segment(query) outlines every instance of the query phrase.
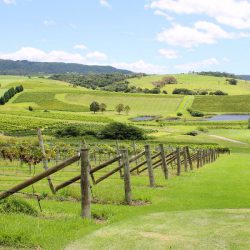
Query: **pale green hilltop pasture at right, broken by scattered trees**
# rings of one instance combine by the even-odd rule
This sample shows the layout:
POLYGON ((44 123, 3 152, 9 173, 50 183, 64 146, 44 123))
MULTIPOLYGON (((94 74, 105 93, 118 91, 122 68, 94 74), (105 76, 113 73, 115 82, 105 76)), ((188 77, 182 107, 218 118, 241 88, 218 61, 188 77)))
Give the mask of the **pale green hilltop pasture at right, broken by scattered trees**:
MULTIPOLYGON (((162 75, 146 76, 141 78, 129 79, 131 85, 152 89, 155 81, 159 81, 163 78, 162 75)), ((215 91, 222 90, 230 95, 245 95, 250 94, 250 82, 239 80, 237 86, 229 85, 226 82, 226 78, 213 77, 213 76, 200 76, 193 74, 178 74, 174 75, 178 84, 170 84, 162 88, 167 90, 169 94, 172 94, 175 88, 187 88, 192 90, 207 90, 215 91)))

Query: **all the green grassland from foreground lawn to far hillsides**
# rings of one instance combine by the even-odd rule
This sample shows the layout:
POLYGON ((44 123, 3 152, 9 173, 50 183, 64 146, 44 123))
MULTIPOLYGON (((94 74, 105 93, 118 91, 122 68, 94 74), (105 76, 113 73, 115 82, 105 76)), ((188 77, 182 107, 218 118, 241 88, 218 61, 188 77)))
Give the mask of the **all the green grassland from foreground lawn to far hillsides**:
MULTIPOLYGON (((137 86, 152 88, 151 81, 162 76, 131 79, 137 86)), ((189 117, 186 109, 192 107, 206 113, 250 112, 250 84, 241 82, 228 86, 225 79, 195 75, 178 75, 177 86, 193 89, 223 89, 231 96, 173 96, 122 94, 73 88, 67 83, 43 78, 0 76, 0 91, 23 84, 24 92, 0 106, 0 135, 2 141, 18 140, 37 142, 36 129, 54 130, 65 124, 99 131, 111 121, 122 121, 146 129, 148 140, 136 142, 143 147, 150 143, 178 146, 223 146, 231 149, 231 155, 221 156, 215 163, 205 165, 175 176, 171 169, 169 180, 163 178, 161 169, 155 171, 156 188, 149 188, 148 176, 132 175, 134 200, 147 202, 142 206, 126 206, 124 183, 116 174, 110 179, 93 185, 95 202, 92 204, 91 221, 80 217, 80 184, 77 182, 60 191, 50 193, 46 180, 29 187, 24 192, 48 195, 41 200, 42 212, 38 216, 16 213, 0 213, 0 249, 249 249, 250 245, 250 130, 247 122, 203 122, 189 117), (88 111, 92 101, 104 102, 108 111, 93 114, 88 111), (114 107, 123 103, 131 107, 129 115, 118 115, 114 107), (28 106, 34 111, 27 110, 28 106), (49 112, 44 112, 48 109, 49 112), (139 115, 175 117, 184 114, 180 121, 132 122, 139 115), (32 133, 30 134, 30 131, 32 133), (197 136, 186 135, 198 131, 197 136), (214 137, 217 136, 217 137, 214 137), (228 140, 229 139, 229 140, 228 140), (230 141, 236 140, 236 141, 230 141), (238 142, 237 142, 238 141, 238 142)), ((79 148, 83 137, 54 138, 44 136, 45 143, 73 143, 79 148)), ((100 141, 87 137, 93 147, 115 141, 100 141)), ((131 145, 131 142, 124 142, 131 145)), ((104 159, 103 159, 104 160, 104 159)), ((93 159, 91 158, 92 165, 93 159)), ((53 166, 54 161, 49 162, 53 166)), ((113 165, 114 167, 114 165, 113 165)), ((33 167, 31 168, 33 170, 33 167)), ((42 171, 42 164, 36 173, 42 171)), ((105 173, 104 170, 102 173, 105 173)), ((79 174, 79 165, 52 176, 59 184, 79 174)), ((0 190, 19 183, 33 175, 19 161, 9 162, 0 158, 0 190)), ((37 201, 25 199, 37 211, 37 201)))

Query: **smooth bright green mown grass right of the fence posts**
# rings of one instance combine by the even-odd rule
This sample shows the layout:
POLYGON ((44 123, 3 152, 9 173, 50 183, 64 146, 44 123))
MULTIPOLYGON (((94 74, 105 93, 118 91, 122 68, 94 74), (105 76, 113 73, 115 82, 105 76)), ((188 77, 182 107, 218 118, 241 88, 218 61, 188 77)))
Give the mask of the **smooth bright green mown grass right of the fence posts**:
POLYGON ((66 249, 248 249, 247 158, 223 156, 170 180, 158 190, 152 207, 142 208, 143 214, 130 213, 66 249))

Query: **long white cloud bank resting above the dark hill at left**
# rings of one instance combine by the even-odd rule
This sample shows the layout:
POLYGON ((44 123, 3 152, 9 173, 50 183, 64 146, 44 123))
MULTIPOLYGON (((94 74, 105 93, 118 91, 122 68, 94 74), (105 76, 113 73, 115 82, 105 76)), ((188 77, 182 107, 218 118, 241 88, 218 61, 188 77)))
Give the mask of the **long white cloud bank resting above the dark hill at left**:
MULTIPOLYGON (((37 62, 65 62, 80 64, 96 64, 97 61, 103 60, 103 53, 91 52, 85 56, 79 53, 69 53, 61 50, 52 50, 45 52, 32 47, 23 47, 12 53, 0 53, 1 59, 9 60, 29 60, 37 62)), ((105 55, 106 56, 106 55, 105 55)), ((106 56, 107 57, 107 56, 106 56)))

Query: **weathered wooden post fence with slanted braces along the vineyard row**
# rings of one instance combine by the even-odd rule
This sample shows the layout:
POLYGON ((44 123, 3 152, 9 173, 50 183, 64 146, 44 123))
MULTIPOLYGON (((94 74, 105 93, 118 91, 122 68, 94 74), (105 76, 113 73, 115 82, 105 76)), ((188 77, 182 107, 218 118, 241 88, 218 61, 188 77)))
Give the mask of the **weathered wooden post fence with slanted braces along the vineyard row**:
POLYGON ((153 188, 156 186, 154 175, 155 169, 161 168, 164 178, 168 179, 170 167, 173 168, 173 166, 176 166, 176 175, 180 176, 184 171, 187 172, 188 170, 201 168, 205 164, 216 161, 221 153, 224 152, 221 152, 219 149, 191 150, 187 146, 183 148, 178 147, 174 151, 166 153, 164 145, 160 144, 158 147, 158 152, 152 154, 150 145, 145 145, 145 148, 142 152, 132 155, 131 157, 129 157, 127 149, 117 150, 117 155, 114 158, 109 159, 98 166, 92 167, 89 160, 89 149, 84 148, 80 150, 79 154, 51 168, 47 167, 44 156, 44 164, 46 165, 45 171, 10 188, 5 192, 0 193, 0 200, 19 192, 44 178, 48 179, 49 187, 53 194, 80 180, 82 217, 90 218, 90 180, 92 181, 93 185, 97 185, 115 173, 119 172, 121 179, 124 181, 125 201, 128 205, 131 205, 132 188, 130 179, 132 174, 139 175, 143 172, 146 172, 149 178, 149 185, 153 188), (79 160, 81 162, 79 171, 80 174, 57 186, 54 186, 50 175, 68 167, 75 162, 78 162, 79 160), (98 171, 105 169, 114 163, 117 164, 115 168, 103 174, 102 176, 99 176, 98 179, 95 178, 95 174, 98 171), (135 166, 132 167, 132 164, 135 166))

